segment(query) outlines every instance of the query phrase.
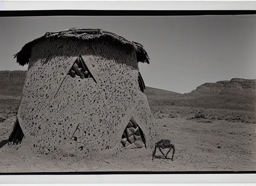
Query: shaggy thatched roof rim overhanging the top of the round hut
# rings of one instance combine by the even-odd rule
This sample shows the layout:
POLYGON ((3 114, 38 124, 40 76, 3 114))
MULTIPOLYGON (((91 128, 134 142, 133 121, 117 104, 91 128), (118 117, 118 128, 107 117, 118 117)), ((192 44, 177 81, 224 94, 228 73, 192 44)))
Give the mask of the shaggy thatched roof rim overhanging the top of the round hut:
POLYGON ((29 43, 25 44, 20 52, 13 55, 14 58, 17 58, 17 63, 21 66, 28 64, 29 58, 31 55, 31 49, 33 45, 37 41, 41 41, 47 38, 75 38, 81 40, 91 40, 91 39, 99 39, 103 37, 103 39, 111 39, 111 41, 116 42, 116 44, 123 44, 123 45, 131 45, 135 48, 137 54, 137 61, 138 62, 146 62, 149 64, 149 57, 144 49, 143 45, 134 41, 128 41, 127 39, 116 35, 115 33, 111 33, 108 31, 103 31, 102 29, 86 29, 86 28, 70 28, 67 30, 59 31, 59 32, 46 32, 44 36, 41 36, 29 43))

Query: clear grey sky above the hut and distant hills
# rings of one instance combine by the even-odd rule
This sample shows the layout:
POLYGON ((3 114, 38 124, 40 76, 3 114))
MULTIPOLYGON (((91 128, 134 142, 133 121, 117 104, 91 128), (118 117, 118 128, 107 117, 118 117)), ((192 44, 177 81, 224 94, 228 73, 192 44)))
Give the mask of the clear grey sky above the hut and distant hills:
POLYGON ((256 79, 256 16, 0 17, 0 25, 0 70, 26 70, 12 57, 25 43, 78 27, 141 43, 151 59, 139 64, 146 86, 187 93, 205 82, 256 79))

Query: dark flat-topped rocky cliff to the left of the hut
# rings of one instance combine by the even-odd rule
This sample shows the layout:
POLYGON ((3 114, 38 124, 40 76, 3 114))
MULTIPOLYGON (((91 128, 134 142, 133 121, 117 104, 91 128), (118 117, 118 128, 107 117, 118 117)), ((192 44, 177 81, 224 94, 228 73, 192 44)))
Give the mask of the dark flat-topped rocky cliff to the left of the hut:
POLYGON ((20 96, 26 77, 27 71, 0 71, 0 95, 20 96))

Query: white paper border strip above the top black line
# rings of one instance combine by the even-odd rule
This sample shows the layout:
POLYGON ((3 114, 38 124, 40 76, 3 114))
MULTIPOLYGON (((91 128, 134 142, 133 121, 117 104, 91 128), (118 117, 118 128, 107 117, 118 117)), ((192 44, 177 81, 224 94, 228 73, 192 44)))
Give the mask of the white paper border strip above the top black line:
POLYGON ((256 10, 256 1, 0 1, 0 11, 20 10, 256 10))

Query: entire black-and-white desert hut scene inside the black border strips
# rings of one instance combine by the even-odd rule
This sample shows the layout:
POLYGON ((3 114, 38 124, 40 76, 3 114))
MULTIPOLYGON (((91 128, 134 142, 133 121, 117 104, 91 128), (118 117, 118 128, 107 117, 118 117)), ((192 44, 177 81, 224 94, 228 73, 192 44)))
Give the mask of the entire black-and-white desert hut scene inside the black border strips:
POLYGON ((0 173, 256 171, 255 15, 0 25, 0 173))

